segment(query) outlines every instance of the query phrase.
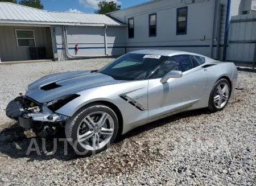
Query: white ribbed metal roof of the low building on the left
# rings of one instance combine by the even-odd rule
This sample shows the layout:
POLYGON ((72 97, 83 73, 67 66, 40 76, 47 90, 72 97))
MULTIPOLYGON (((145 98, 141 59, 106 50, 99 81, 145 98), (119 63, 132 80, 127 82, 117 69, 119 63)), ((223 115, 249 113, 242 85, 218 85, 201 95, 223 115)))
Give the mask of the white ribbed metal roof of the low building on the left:
POLYGON ((0 23, 123 26, 104 14, 64 13, 0 2, 0 23))

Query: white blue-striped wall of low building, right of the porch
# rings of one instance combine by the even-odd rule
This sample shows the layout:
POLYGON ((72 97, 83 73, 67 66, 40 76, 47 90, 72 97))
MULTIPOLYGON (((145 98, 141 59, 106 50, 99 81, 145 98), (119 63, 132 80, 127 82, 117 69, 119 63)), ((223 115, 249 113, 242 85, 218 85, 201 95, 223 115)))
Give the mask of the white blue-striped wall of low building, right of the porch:
MULTIPOLYGON (((104 27, 68 26, 67 41, 68 53, 73 56, 98 56, 105 55, 104 27), (76 44, 79 51, 75 52, 76 44)), ((108 54, 123 55, 125 53, 125 37, 123 33, 126 27, 108 27, 106 30, 108 54)), ((62 27, 56 27, 56 42, 59 60, 64 60, 64 48, 62 39, 62 27)))

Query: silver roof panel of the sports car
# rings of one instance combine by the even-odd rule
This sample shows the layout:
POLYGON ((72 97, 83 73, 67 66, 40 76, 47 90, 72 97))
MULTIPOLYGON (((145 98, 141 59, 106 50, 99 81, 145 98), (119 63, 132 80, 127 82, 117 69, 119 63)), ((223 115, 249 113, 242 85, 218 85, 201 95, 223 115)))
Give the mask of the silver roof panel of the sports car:
MULTIPOLYGON (((202 56, 209 60, 214 60, 210 57, 200 55, 199 53, 192 53, 192 52, 185 52, 185 51, 176 51, 176 50, 169 50, 169 49, 142 49, 139 51, 133 51, 129 53, 141 53, 141 54, 152 54, 152 55, 161 55, 161 56, 174 56, 174 55, 196 55, 202 56)), ((215 60, 214 60, 215 61, 215 60)))

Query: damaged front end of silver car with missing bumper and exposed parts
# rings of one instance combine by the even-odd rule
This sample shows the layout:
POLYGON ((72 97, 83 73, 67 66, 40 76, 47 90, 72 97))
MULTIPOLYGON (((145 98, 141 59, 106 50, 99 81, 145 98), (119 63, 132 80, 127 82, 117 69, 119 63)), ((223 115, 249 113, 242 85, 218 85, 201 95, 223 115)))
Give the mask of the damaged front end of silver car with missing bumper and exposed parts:
POLYGON ((6 115, 18 121, 20 127, 32 129, 44 138, 64 127, 68 117, 55 111, 76 97, 76 94, 68 95, 41 104, 27 96, 19 96, 7 105, 6 115))

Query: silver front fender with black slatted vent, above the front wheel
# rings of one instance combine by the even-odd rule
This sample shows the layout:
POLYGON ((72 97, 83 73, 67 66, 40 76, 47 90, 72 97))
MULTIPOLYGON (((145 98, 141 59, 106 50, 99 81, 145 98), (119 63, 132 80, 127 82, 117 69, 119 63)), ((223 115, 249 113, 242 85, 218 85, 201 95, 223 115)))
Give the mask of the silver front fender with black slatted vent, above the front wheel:
POLYGON ((139 110, 134 104, 130 104, 121 98, 121 95, 125 94, 129 96, 147 109, 147 89, 148 80, 143 80, 84 90, 76 93, 79 94, 80 97, 68 102, 68 104, 56 110, 56 113, 71 117, 77 110, 82 108, 82 106, 90 104, 91 102, 108 101, 117 106, 121 111, 123 117, 122 133, 126 133, 134 127, 147 122, 148 110, 139 110))

